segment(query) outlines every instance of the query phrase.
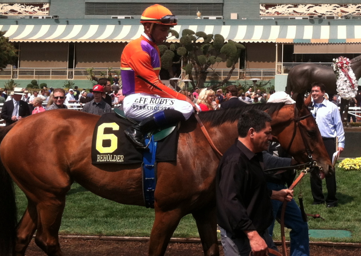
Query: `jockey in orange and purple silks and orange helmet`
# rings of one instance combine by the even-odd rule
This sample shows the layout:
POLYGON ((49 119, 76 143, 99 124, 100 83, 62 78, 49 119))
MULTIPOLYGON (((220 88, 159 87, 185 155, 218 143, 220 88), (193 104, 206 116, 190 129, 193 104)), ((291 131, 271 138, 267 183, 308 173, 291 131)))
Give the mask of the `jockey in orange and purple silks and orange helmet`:
POLYGON ((161 68, 157 45, 162 44, 169 28, 177 25, 177 17, 166 7, 154 4, 146 8, 140 23, 144 32, 128 43, 120 59, 124 113, 140 121, 124 133, 139 148, 146 148, 144 135, 169 123, 187 120, 195 109, 185 95, 163 85, 159 79, 161 68), (162 89, 158 90, 136 76, 139 75, 162 89))

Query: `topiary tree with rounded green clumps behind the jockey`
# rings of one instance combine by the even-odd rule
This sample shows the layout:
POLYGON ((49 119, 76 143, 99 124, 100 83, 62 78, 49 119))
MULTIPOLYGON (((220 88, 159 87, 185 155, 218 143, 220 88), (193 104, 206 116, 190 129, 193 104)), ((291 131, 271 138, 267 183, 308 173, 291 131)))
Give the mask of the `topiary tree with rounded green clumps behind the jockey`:
MULTIPOLYGON (((170 32, 176 36, 174 33, 176 31, 170 30, 170 32)), ((225 85, 230 80, 241 55, 241 51, 244 49, 243 45, 232 40, 225 43, 224 37, 220 34, 206 34, 203 31, 195 33, 190 29, 184 29, 179 43, 171 44, 169 50, 164 47, 165 46, 160 46, 159 48, 162 48, 160 52, 162 56, 162 67, 168 67, 169 71, 169 65, 172 64, 171 59, 173 58, 170 52, 176 51, 177 54, 181 56, 180 61, 188 63, 183 69, 192 81, 194 81, 192 76, 192 70, 194 70, 197 84, 195 85, 194 82, 192 82, 192 85, 197 87, 204 87, 208 69, 213 69, 214 65, 218 65, 220 62, 226 62, 227 67, 231 68, 231 70, 223 81, 218 85, 212 86, 214 88, 225 85), (203 44, 200 45, 199 42, 201 42, 201 40, 203 40, 203 44)))

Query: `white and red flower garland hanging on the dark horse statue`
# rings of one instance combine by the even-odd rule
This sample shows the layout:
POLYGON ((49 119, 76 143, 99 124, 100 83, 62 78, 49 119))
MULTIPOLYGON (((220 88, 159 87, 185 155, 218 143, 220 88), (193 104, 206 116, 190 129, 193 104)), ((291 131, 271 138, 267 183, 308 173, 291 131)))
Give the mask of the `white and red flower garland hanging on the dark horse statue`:
POLYGON ((344 99, 352 99, 357 95, 358 81, 346 57, 333 59, 333 68, 336 74, 337 93, 344 99))

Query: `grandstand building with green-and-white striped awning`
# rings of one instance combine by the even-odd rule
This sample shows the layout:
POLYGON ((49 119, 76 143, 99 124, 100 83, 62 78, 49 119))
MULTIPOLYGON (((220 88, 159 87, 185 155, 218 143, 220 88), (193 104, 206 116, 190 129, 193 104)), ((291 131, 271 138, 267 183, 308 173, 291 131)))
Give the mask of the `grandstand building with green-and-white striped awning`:
MULTIPOLYGON (((72 80, 88 88, 87 68, 93 67, 96 75, 113 68, 114 75, 122 49, 142 32, 142 11, 154 3, 179 17, 174 29, 180 33, 222 34, 245 45, 233 83, 258 78, 283 90, 294 65, 331 65, 338 56, 361 54, 361 3, 354 0, 0 0, 0 30, 19 49, 15 66, 0 71, 0 86, 13 78, 20 86, 35 79, 61 87, 72 80)), ((224 63, 214 70, 221 78, 228 71, 224 63)), ((216 74, 209 76, 211 82, 216 74)))

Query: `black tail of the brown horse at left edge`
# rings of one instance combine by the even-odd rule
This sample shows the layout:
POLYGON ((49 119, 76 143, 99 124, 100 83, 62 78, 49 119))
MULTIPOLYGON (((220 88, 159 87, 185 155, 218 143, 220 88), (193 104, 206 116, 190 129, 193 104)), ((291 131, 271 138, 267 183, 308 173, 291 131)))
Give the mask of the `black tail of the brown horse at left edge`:
MULTIPOLYGON (((0 142, 13 125, 0 127, 0 142)), ((16 202, 13 181, 0 160, 0 255, 9 255, 16 238, 16 202)))

